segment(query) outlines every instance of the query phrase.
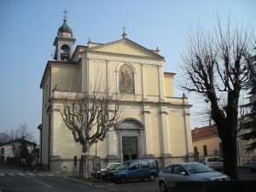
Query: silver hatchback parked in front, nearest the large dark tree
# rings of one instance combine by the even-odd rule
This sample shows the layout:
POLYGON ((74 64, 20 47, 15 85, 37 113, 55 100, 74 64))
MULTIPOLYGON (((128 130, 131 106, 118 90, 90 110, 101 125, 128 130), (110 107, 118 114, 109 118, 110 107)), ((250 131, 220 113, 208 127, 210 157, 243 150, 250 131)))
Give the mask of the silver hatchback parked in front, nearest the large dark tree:
POLYGON ((214 181, 230 180, 230 177, 201 163, 183 163, 166 166, 159 172, 159 187, 161 192, 174 189, 179 181, 214 181))

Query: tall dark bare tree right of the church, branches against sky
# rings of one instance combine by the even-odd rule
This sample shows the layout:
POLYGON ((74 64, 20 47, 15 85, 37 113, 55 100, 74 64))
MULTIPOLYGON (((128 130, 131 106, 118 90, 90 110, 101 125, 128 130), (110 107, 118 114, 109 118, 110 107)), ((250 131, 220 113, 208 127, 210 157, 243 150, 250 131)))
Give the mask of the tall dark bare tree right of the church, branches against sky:
POLYGON ((180 87, 195 92, 210 105, 211 118, 223 143, 224 172, 237 178, 237 117, 242 86, 249 80, 250 55, 255 47, 253 32, 244 26, 226 28, 218 18, 213 32, 190 32, 183 50, 180 87))

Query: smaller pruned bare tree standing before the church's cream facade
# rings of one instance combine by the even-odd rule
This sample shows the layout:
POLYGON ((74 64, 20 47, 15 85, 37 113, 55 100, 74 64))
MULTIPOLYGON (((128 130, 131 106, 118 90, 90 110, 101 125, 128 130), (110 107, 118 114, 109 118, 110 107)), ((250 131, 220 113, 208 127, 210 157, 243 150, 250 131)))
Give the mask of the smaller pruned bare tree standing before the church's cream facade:
MULTIPOLYGON (((74 84, 73 84, 74 85, 74 84)), ((86 92, 71 92, 60 105, 61 118, 82 145, 79 175, 88 177, 88 155, 92 144, 103 141, 113 131, 122 109, 121 96, 111 86, 97 81, 86 92)))

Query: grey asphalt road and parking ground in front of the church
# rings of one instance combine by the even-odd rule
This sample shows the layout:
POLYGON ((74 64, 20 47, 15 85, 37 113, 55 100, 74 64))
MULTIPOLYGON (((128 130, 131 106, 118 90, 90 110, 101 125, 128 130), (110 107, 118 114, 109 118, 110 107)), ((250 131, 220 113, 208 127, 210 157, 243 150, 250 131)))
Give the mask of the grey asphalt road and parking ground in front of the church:
MULTIPOLYGON (((256 172, 248 169, 238 170, 241 180, 255 180, 256 172)), ((65 175, 53 172, 23 172, 21 167, 3 166, 0 164, 0 192, 160 192, 157 179, 154 182, 145 180, 124 184, 92 185, 71 180, 65 175)))

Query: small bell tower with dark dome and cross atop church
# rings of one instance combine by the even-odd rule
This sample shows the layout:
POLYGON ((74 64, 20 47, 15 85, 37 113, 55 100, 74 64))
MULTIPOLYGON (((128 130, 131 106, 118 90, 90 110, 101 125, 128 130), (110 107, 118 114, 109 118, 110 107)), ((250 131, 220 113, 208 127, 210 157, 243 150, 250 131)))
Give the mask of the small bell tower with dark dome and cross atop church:
POLYGON ((63 11, 64 20, 62 26, 57 32, 55 37, 55 53, 52 55, 55 61, 70 61, 70 58, 73 54, 73 44, 76 39, 73 38, 72 29, 67 26, 67 10, 63 11))

